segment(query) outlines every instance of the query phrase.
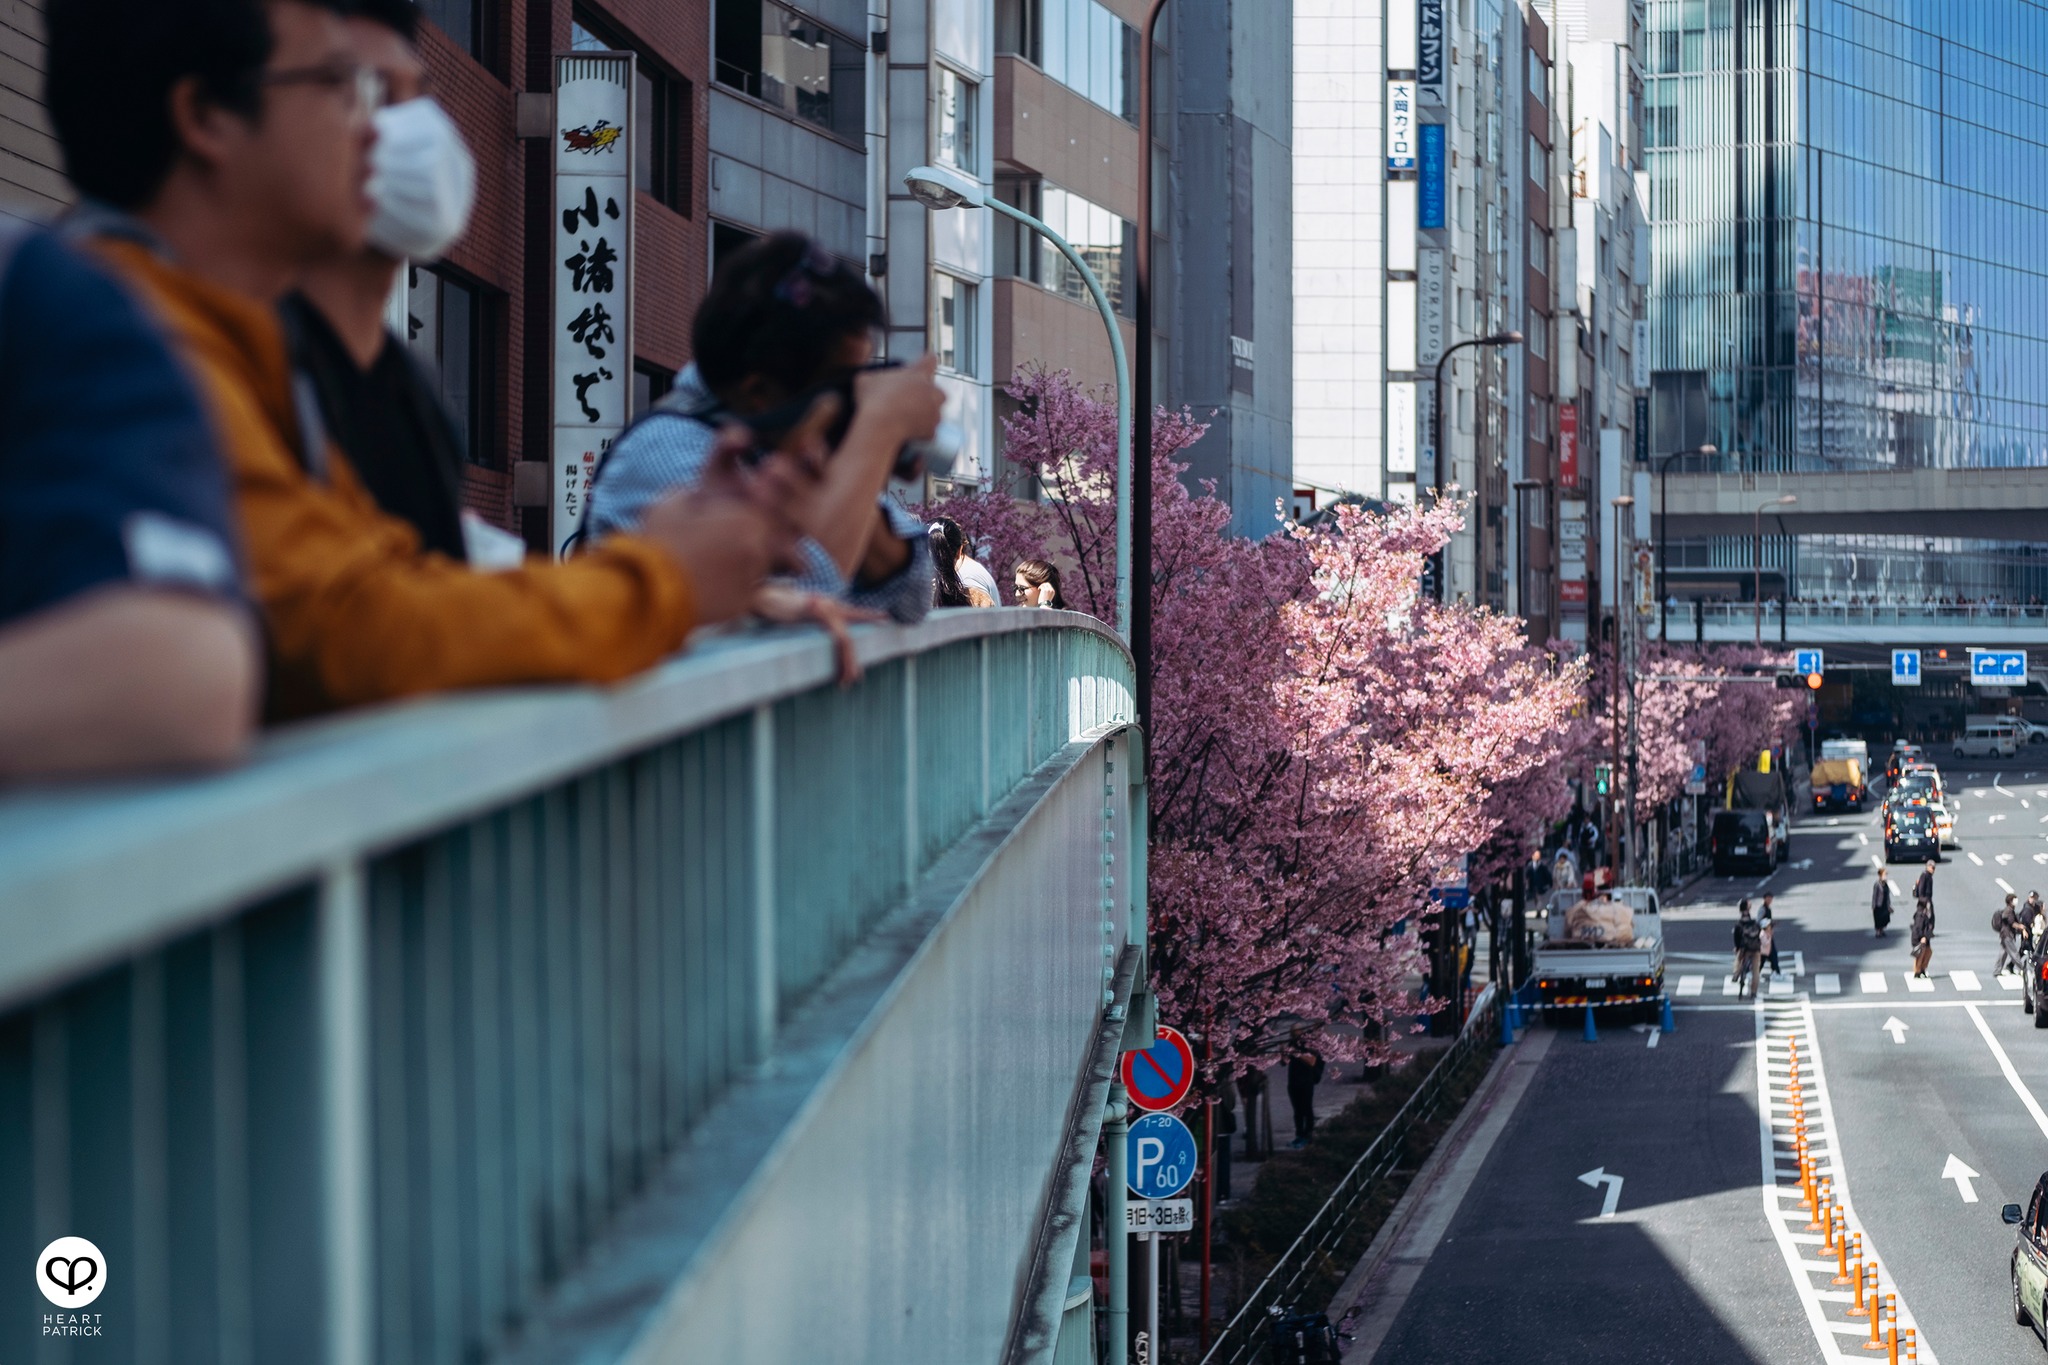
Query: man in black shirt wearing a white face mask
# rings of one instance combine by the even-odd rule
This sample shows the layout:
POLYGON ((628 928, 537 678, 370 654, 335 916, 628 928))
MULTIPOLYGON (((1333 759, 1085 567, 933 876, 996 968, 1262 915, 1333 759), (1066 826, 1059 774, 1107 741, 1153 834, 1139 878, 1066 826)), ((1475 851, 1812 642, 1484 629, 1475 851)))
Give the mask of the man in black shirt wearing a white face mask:
POLYGON ((377 505, 410 522, 420 544, 479 569, 516 565, 524 546, 463 512, 465 450, 406 340, 385 327, 385 301, 408 262, 438 260, 469 227, 477 168, 461 131, 426 94, 412 0, 358 0, 348 20, 365 65, 385 78, 369 192, 369 246, 317 266, 285 299, 293 368, 311 385, 328 436, 377 505))

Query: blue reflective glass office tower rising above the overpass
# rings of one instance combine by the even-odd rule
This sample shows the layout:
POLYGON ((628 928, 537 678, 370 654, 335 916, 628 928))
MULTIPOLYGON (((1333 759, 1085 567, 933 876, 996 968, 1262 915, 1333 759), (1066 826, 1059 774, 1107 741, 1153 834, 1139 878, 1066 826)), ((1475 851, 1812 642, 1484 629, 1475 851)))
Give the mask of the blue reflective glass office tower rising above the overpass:
POLYGON ((2048 465, 2048 6, 1649 0, 1645 68, 1653 452, 2048 465))

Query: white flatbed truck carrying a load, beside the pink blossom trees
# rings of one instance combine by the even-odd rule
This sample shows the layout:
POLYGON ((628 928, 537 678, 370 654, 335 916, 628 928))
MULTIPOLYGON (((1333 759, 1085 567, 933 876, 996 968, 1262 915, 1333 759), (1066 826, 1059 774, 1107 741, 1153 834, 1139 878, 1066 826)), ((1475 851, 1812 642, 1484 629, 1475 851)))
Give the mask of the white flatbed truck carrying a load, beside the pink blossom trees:
POLYGON ((1618 1001, 1614 1009, 1655 1023, 1663 1017, 1663 915, 1653 886, 1610 886, 1591 900, 1561 890, 1544 902, 1544 935, 1530 960, 1540 1003, 1618 1001))

